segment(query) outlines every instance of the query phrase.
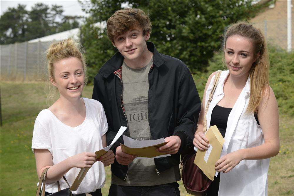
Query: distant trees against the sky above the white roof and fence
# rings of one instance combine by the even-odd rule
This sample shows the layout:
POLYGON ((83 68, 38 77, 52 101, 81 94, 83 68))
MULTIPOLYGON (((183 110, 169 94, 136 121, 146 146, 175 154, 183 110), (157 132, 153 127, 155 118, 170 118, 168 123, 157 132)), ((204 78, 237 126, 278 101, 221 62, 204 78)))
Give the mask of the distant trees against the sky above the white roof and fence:
POLYGON ((79 26, 80 16, 64 16, 62 13, 62 6, 52 5, 50 8, 42 3, 36 3, 31 11, 21 4, 8 8, 0 20, 0 44, 24 42, 79 26))

